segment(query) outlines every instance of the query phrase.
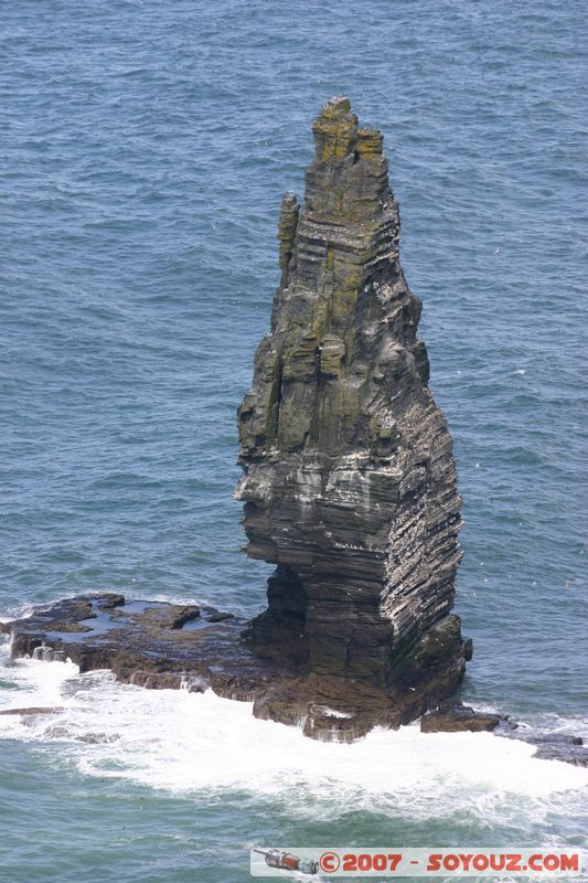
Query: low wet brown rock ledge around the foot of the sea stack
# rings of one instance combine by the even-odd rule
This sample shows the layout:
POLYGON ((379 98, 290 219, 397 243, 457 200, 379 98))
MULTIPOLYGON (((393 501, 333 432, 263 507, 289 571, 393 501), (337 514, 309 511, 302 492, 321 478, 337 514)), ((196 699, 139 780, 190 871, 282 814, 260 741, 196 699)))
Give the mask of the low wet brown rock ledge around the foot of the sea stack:
POLYGON ((259 655, 246 639, 248 621, 213 607, 127 600, 114 593, 81 595, 0 624, 11 656, 71 659, 87 672, 109 669, 121 683, 148 689, 213 690, 253 702, 256 717, 300 726, 321 741, 353 742, 374 726, 398 727, 418 719, 455 690, 463 658, 441 655, 445 641, 461 647, 459 631, 442 623, 435 647, 417 643, 400 687, 389 693, 336 677, 318 677, 291 646, 279 657, 259 655))

